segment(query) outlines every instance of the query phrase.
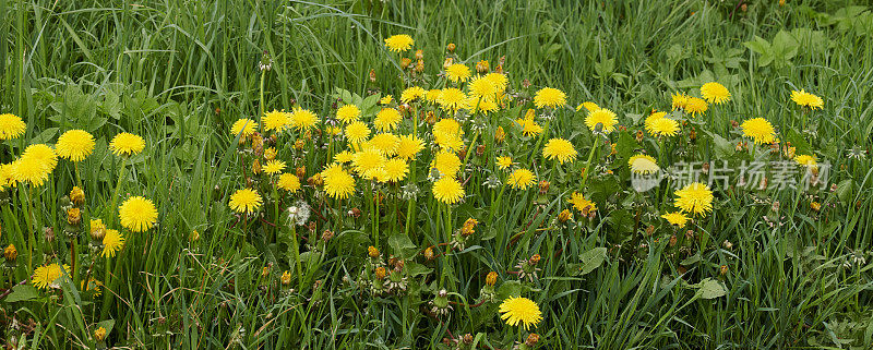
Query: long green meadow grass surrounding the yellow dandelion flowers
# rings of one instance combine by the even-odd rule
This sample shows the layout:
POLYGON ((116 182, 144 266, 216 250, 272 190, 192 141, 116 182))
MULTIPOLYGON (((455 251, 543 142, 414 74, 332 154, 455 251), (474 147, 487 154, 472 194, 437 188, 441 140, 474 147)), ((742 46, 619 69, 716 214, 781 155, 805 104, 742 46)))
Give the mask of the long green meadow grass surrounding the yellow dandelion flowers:
MULTIPOLYGON (((93 331, 103 325, 110 328, 106 343, 121 348, 446 348, 443 338, 470 334, 479 349, 509 349, 519 331, 500 322, 495 303, 463 305, 479 301, 485 276, 494 270, 498 286, 506 286, 499 288, 500 295, 523 292, 540 305, 545 319, 536 333, 542 349, 869 347, 873 171, 869 154, 865 159, 847 154, 852 148, 869 153, 873 141, 873 14, 870 8, 851 8, 852 1, 734 5, 0 0, 0 113, 27 123, 24 136, 4 142, 0 160, 12 161, 27 144, 53 144, 69 129, 89 131, 97 147, 80 164, 86 207, 91 217, 119 228, 111 204, 122 164, 107 144, 122 131, 135 133, 146 148, 127 162, 117 201, 143 195, 159 212, 157 228, 125 233, 135 239, 109 260, 112 275, 103 295, 70 282, 59 290, 11 290, 0 300, 0 339, 24 348, 94 347, 93 331), (399 97, 398 56, 383 43, 394 34, 416 39, 428 82, 438 82, 445 48, 454 43, 457 58, 470 67, 489 60, 494 68, 505 57, 518 100, 542 86, 561 88, 573 107, 590 100, 617 111, 631 133, 639 129, 639 116, 668 110, 672 93, 696 94, 703 83, 721 82, 732 100, 710 106, 699 130, 736 142, 741 134, 731 120, 763 117, 799 153, 828 160, 828 181, 839 189, 717 191, 715 212, 695 226, 695 239, 678 232, 679 246, 687 248, 679 250, 668 246, 673 229, 655 215, 671 208, 672 196, 637 195, 627 171, 617 170, 614 183, 598 176, 586 189, 598 202, 597 217, 586 220, 576 213, 579 224, 564 227, 554 217, 577 190, 573 185, 594 141, 584 113, 566 109, 557 113, 549 132, 573 141, 579 159, 561 167, 567 173, 553 174, 546 196, 536 190, 501 195, 482 185, 486 173, 467 171, 473 179, 466 191, 477 195, 446 213, 424 179, 429 158, 419 160, 421 192, 414 204, 411 246, 397 239, 405 230, 407 202, 386 200, 380 208, 384 218, 374 226, 371 218, 378 214, 368 209, 372 191, 363 190, 363 181, 358 196, 342 209, 307 188, 299 197, 319 212, 313 217, 327 219, 313 219, 315 231, 297 228, 308 239, 301 243, 306 265, 301 278, 291 274, 295 291, 289 292, 278 281, 284 270, 297 267, 296 258, 285 254, 294 246, 287 241, 290 229, 240 224, 227 206, 229 195, 244 186, 241 169, 250 169, 240 162, 236 135, 228 130, 239 118, 256 117, 262 105, 290 110, 297 101, 322 119, 333 116, 336 88, 399 97), (264 51, 273 65, 262 88, 258 65, 264 51), (531 87, 523 88, 523 80, 531 87), (825 108, 800 112, 789 96, 801 88, 821 96, 825 108), (813 200, 823 204, 821 212, 810 209, 813 200), (780 203, 778 213, 770 209, 774 201, 780 203), (352 205, 363 212, 360 218, 344 215, 352 205), (780 226, 770 227, 765 216, 770 221, 775 216, 780 226), (408 276, 414 282, 402 297, 373 295, 358 285, 360 274, 369 273, 363 266, 374 238, 383 255, 420 252, 446 241, 445 217, 453 229, 467 217, 481 222, 465 251, 433 262, 421 255, 408 258, 409 266, 433 271, 408 276), (655 226, 651 237, 644 234, 649 225, 655 226), (319 239, 325 229, 336 232, 327 243, 319 239), (193 230, 199 241, 189 240, 193 230), (271 234, 286 239, 272 240, 271 234), (607 249, 605 264, 576 274, 581 255, 596 248, 607 249), (507 271, 537 253, 542 255, 539 278, 512 283, 517 276, 507 271), (858 263, 857 256, 865 261, 858 263), (273 267, 263 278, 267 264, 273 267), (726 275, 719 273, 722 265, 726 275), (706 278, 720 282, 726 295, 701 298, 694 285, 706 278), (461 303, 442 321, 424 312, 440 288, 461 303)), ((515 130, 511 119, 519 113, 521 107, 495 120, 510 132, 515 130)), ((473 134, 467 132, 468 143, 473 134)), ((280 138, 280 155, 295 167, 306 166, 308 178, 324 167, 327 155, 312 152, 311 143, 309 152, 294 152, 298 136, 280 138)), ((631 145, 632 137, 610 137, 631 145)), ((722 157, 719 152, 726 150, 716 140, 703 132, 699 138, 698 146, 668 145, 677 150, 673 162, 687 158, 680 158, 681 150, 697 160, 736 164, 748 158, 739 152, 722 157)), ((485 134, 480 140, 490 142, 485 134)), ((626 147, 656 154, 653 140, 626 147)), ((539 155, 533 147, 537 140, 510 132, 507 141, 505 150, 525 166, 539 155)), ((608 158, 606 150, 597 153, 596 164, 608 158)), ((494 156, 489 148, 486 157, 471 161, 489 168, 482 159, 494 156)), ((607 166, 626 169, 620 160, 607 166)), ((552 176, 550 166, 541 168, 540 178, 552 176)), ((14 267, 3 269, 3 290, 22 281, 27 286, 33 268, 44 262, 70 264, 69 229, 59 203, 74 183, 73 166, 61 160, 51 180, 35 189, 38 230, 25 219, 25 186, 0 194, 0 243, 14 243, 20 252, 14 267), (53 240, 43 227, 53 231, 53 240), (36 240, 33 254, 25 249, 31 236, 36 240)), ((262 208, 267 219, 275 217, 273 203, 262 208)), ((86 233, 76 240, 80 268, 89 265, 105 280, 106 260, 87 248, 86 233)))

